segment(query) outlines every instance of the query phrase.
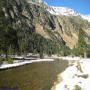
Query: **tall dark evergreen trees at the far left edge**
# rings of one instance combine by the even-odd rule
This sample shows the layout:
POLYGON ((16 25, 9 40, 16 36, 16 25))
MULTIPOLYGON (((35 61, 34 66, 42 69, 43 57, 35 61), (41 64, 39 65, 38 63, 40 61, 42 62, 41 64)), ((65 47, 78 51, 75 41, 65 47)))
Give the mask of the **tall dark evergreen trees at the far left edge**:
MULTIPOLYGON (((18 48, 16 30, 5 17, 2 8, 6 5, 6 0, 0 1, 0 55, 5 54, 6 60, 11 62, 8 54, 13 54, 18 48)), ((2 62, 2 59, 0 59, 2 62)))

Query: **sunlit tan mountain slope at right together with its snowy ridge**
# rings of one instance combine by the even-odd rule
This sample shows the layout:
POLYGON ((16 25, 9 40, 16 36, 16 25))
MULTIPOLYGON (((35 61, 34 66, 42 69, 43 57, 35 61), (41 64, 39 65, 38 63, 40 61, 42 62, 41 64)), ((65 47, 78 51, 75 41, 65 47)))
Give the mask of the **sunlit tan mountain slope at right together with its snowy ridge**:
MULTIPOLYGON (((57 25, 57 30, 63 31, 63 33, 60 32, 60 35, 70 48, 76 46, 80 29, 83 29, 86 33, 90 31, 89 15, 82 15, 67 7, 46 6, 46 10, 57 17, 56 23, 59 25, 57 25)), ((90 34, 88 33, 87 36, 90 37, 90 34)), ((85 39, 87 43, 90 43, 89 38, 85 39)))

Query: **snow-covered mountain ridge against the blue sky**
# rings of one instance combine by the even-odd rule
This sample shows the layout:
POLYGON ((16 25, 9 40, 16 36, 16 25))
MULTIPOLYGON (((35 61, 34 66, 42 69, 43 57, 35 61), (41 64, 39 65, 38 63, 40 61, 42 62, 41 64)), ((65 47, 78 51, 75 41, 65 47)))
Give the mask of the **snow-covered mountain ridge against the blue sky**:
POLYGON ((53 15, 81 16, 83 19, 86 19, 90 22, 90 15, 80 14, 79 12, 68 7, 50 6, 50 8, 48 8, 47 10, 53 15))

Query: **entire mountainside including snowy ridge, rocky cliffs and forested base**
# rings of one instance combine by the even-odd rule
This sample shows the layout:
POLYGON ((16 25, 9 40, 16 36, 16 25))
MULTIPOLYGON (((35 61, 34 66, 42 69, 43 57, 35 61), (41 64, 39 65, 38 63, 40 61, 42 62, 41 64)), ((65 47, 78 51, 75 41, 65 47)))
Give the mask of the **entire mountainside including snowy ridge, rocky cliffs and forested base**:
POLYGON ((0 51, 67 55, 77 47, 80 31, 89 44, 90 23, 66 9, 49 7, 42 0, 0 1, 0 51))

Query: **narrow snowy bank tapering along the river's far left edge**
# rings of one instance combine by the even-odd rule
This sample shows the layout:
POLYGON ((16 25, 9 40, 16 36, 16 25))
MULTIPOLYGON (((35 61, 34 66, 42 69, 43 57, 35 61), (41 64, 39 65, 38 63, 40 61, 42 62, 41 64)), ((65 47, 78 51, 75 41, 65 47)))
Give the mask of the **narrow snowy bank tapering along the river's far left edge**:
POLYGON ((54 59, 15 60, 13 64, 4 63, 4 64, 0 65, 0 69, 7 69, 7 68, 12 68, 12 67, 29 64, 29 63, 45 62, 45 61, 54 61, 54 59))

